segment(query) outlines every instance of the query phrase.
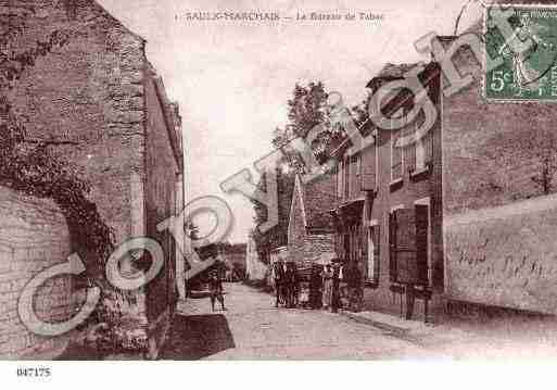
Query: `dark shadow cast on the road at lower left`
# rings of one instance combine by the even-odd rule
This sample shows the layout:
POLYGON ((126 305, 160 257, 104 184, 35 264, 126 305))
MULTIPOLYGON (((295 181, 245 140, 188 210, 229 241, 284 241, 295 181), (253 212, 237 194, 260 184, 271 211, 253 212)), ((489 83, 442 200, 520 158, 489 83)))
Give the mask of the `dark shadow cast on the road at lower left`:
POLYGON ((191 361, 236 348, 223 314, 177 315, 160 358, 191 361))

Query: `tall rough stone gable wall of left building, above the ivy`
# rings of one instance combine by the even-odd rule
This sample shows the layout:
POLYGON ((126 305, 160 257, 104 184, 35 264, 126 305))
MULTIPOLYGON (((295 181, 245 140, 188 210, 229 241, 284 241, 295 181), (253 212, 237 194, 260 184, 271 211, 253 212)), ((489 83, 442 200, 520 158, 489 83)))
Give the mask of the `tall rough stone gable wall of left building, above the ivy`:
POLYGON ((8 96, 28 139, 53 141, 68 168, 92 185, 90 198, 121 242, 130 234, 130 175, 143 168, 144 41, 93 1, 76 2, 75 18, 63 1, 30 3, 31 12, 29 1, 0 1, 2 23, 26 15, 11 42, 16 53, 56 30, 69 39, 39 56, 8 96))

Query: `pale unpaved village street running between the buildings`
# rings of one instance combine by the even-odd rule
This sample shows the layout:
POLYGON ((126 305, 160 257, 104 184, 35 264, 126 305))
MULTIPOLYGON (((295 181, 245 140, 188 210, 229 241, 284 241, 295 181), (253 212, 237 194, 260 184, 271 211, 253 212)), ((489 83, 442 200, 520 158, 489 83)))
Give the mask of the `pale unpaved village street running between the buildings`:
MULTIPOLYGON (((554 332, 540 323, 466 329, 423 325, 396 332, 344 314, 275 309, 273 297, 241 284, 226 284, 227 311, 211 313, 207 298, 179 305, 163 360, 459 360, 557 355, 554 332), (186 314, 186 315, 183 315, 186 314), (537 331, 533 331, 537 329, 537 331)), ((553 325, 553 329, 555 325, 553 325)))

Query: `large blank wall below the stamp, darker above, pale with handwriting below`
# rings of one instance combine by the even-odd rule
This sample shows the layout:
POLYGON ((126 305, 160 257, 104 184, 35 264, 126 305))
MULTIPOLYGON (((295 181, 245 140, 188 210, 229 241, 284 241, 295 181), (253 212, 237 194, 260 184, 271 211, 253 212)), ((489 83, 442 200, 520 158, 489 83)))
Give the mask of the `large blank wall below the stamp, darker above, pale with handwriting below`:
POLYGON ((454 61, 474 80, 443 100, 447 297, 555 313, 555 171, 547 190, 536 179, 544 155, 555 162, 557 112, 544 103, 486 101, 472 52, 463 49, 454 61))

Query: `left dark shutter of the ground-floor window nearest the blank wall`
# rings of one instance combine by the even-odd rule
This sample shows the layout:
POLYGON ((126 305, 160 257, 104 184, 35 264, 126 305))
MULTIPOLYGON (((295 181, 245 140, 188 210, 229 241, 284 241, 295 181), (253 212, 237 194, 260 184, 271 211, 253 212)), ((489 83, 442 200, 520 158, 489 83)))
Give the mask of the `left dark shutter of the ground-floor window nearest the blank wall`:
POLYGON ((395 222, 396 278, 402 284, 416 284, 418 281, 418 269, 416 262, 416 214, 414 209, 396 210, 395 222))

